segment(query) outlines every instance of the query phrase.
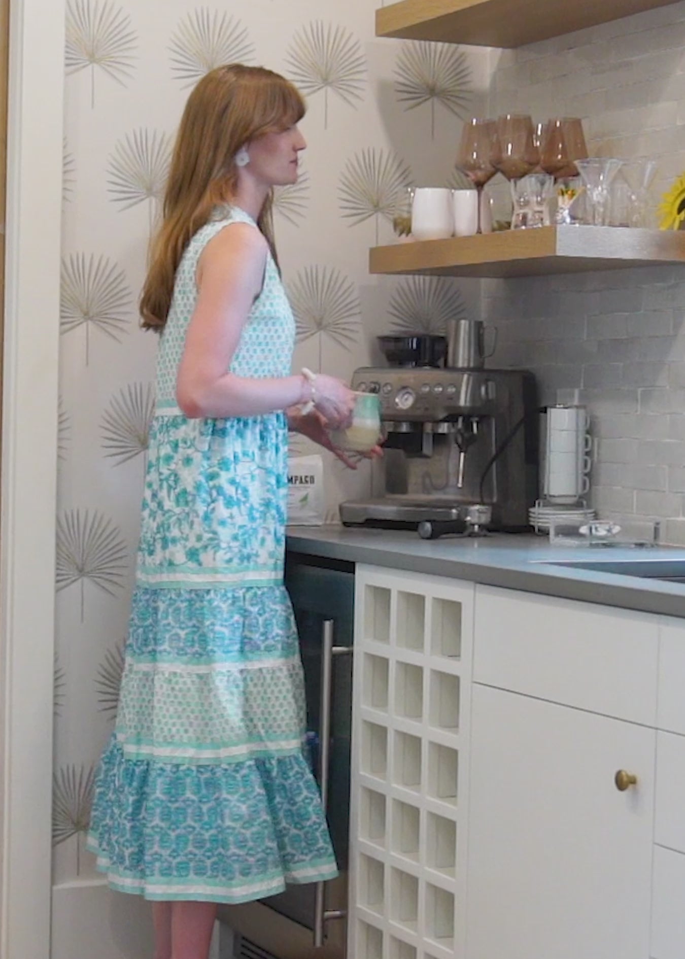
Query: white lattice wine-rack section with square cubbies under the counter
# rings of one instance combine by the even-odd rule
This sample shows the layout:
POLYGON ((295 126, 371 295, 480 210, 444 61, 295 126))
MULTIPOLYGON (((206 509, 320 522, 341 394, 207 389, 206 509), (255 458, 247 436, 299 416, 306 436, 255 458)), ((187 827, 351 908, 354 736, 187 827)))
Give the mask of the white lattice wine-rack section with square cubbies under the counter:
POLYGON ((463 957, 473 598, 357 568, 348 959, 463 957))

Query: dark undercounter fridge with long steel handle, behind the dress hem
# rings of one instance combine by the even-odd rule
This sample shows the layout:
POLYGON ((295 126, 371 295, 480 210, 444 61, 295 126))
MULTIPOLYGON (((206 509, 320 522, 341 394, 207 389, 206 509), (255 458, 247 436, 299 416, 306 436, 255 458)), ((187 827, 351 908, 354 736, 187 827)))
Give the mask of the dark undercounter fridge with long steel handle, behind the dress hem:
POLYGON ((289 553, 286 586, 295 610, 307 699, 307 739, 340 876, 288 886, 219 919, 237 933, 235 955, 344 959, 349 835, 354 565, 289 553))

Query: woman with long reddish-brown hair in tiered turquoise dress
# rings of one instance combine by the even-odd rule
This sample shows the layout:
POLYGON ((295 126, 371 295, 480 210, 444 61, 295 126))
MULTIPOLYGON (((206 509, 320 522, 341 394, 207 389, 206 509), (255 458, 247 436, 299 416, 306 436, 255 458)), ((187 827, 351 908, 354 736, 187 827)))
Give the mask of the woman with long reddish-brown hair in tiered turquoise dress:
POLYGON ((161 331, 156 410, 88 847, 113 888, 155 901, 154 959, 205 959, 217 902, 336 875, 283 586, 288 427, 330 448, 324 424, 354 402, 333 377, 290 374, 270 213, 296 180, 303 114, 269 70, 201 80, 140 303, 161 331))

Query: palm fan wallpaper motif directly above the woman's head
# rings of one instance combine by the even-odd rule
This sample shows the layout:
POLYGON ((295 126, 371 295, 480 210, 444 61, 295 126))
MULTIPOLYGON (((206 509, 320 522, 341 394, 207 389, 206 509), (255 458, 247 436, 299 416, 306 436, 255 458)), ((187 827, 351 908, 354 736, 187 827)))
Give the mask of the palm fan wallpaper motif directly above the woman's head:
POLYGON ((178 25, 169 45, 172 72, 192 86, 224 63, 249 63, 254 44, 240 20, 224 11, 201 7, 178 25))

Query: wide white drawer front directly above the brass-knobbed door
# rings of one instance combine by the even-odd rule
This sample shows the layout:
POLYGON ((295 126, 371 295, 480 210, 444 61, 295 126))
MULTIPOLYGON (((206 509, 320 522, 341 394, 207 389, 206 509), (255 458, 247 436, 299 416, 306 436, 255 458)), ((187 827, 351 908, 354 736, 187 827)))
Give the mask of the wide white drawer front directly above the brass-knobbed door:
POLYGON ((655 725, 656 617, 478 586, 475 625, 476 682, 655 725))

